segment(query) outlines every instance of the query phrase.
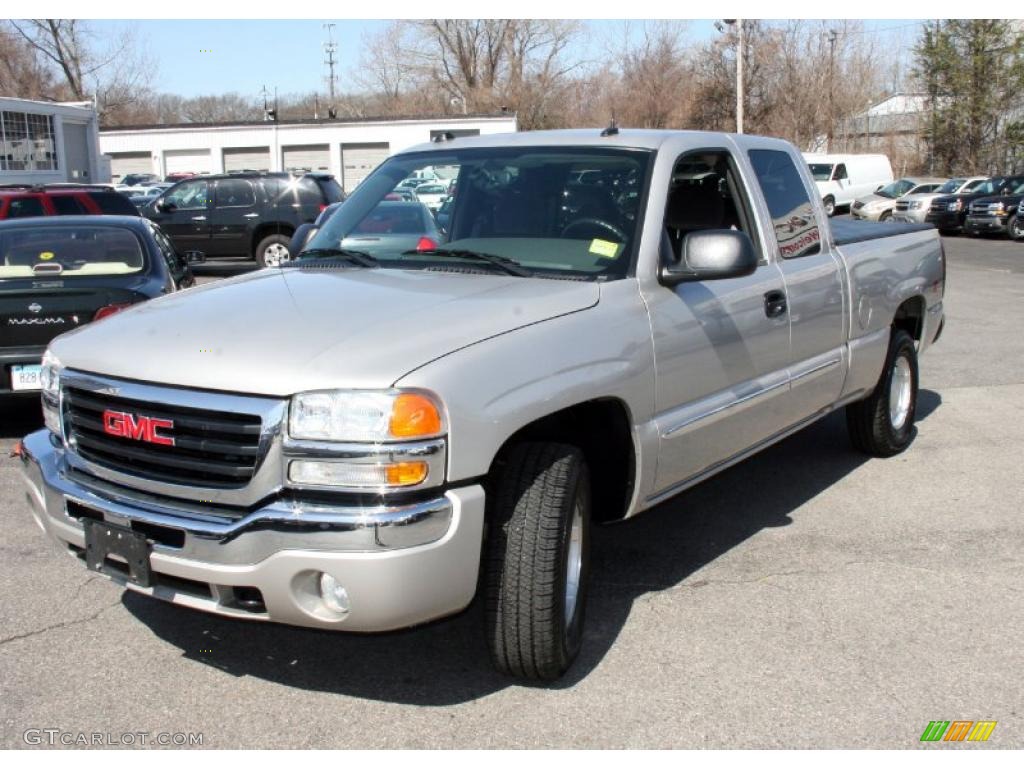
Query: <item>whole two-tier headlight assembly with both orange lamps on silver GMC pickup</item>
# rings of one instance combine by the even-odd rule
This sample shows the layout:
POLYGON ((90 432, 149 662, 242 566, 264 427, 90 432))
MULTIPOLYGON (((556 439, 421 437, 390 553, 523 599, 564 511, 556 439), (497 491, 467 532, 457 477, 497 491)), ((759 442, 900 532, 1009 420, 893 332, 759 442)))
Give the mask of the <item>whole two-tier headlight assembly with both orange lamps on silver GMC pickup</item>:
POLYGON ((284 479, 380 494, 440 485, 444 430, 440 402, 425 392, 302 392, 292 397, 284 479))

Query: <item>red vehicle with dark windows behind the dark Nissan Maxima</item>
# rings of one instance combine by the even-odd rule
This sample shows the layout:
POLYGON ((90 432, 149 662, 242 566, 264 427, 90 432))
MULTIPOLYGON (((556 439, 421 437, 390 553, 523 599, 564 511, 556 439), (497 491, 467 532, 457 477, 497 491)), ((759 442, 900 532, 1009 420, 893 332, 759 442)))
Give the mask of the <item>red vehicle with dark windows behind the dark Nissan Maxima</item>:
POLYGON ((137 216, 123 195, 109 186, 86 184, 4 184, 0 186, 0 220, 32 216, 114 214, 137 216))

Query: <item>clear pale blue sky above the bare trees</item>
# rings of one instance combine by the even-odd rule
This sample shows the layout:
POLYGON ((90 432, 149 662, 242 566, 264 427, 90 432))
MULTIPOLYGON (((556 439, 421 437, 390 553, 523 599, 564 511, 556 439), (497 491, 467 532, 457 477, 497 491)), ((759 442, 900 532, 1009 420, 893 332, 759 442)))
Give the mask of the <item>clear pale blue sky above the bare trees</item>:
MULTIPOLYGON (((327 20, 327 19, 325 19, 327 20)), ((891 34, 908 44, 914 30, 911 20, 868 22, 876 30, 891 34)), ((368 19, 336 20, 339 88, 346 90, 346 76, 356 68, 364 34, 381 29, 386 22, 368 19)), ((590 40, 609 40, 622 34, 623 23, 587 22, 593 29, 590 40)), ((321 20, 293 19, 144 19, 137 22, 95 20, 91 25, 101 37, 119 36, 130 25, 142 42, 145 58, 155 68, 156 90, 197 96, 237 91, 255 97, 261 86, 272 92, 309 93, 326 90, 323 43, 327 33, 321 20)), ((639 23, 633 24, 639 31, 639 23)), ((689 38, 698 43, 715 35, 711 20, 691 22, 689 38)), ((600 54, 598 46, 594 55, 600 54)))

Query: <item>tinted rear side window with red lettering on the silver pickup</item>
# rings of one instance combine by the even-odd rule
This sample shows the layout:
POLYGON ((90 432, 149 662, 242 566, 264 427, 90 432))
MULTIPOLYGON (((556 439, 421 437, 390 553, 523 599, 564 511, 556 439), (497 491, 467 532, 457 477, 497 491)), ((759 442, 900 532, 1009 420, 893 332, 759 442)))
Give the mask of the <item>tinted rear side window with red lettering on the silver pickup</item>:
POLYGON ((821 230, 793 158, 778 150, 751 150, 750 158, 768 204, 779 255, 793 259, 818 253, 821 230))

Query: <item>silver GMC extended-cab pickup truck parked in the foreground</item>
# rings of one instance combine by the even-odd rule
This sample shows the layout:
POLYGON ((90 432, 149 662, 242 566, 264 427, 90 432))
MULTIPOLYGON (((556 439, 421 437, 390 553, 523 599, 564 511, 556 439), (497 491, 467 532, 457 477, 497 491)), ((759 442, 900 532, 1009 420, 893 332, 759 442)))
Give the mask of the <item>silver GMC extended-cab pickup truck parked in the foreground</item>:
POLYGON ((934 229, 829 226, 784 141, 441 136, 297 258, 55 339, 26 498, 86 567, 222 616, 376 632, 480 585, 494 663, 550 680, 592 524, 840 408, 907 447, 944 284, 934 229), (435 227, 392 201, 437 169, 435 227))

